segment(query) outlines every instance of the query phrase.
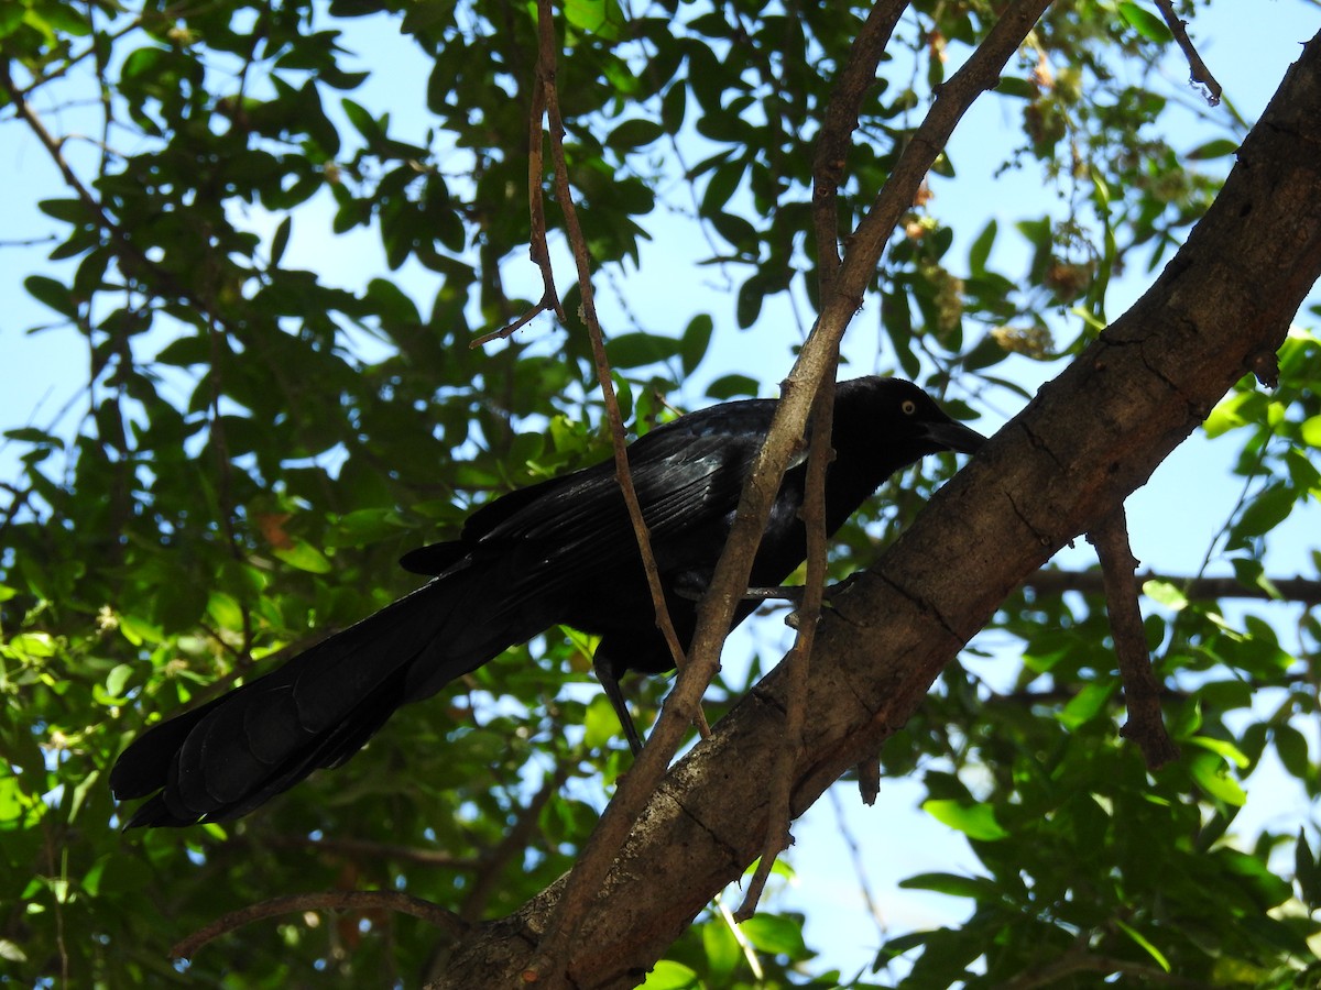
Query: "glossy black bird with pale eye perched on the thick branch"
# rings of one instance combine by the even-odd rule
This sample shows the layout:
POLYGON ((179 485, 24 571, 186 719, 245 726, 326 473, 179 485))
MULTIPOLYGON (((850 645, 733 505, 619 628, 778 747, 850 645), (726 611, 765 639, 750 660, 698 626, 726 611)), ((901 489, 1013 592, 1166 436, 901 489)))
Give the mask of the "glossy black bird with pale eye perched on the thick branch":
MULTIPOLYGON (((715 570, 774 411, 771 399, 715 405, 629 447, 670 616, 686 645, 697 618, 694 591, 715 570)), ((836 387, 831 442, 826 528, 834 533, 894 471, 941 450, 974 453, 983 437, 909 381, 860 378, 836 387)), ((804 473, 806 453, 781 484, 753 585, 781 583, 806 557, 798 516, 804 473)), ((597 676, 639 748, 620 676, 663 673, 674 663, 657 630, 613 461, 498 498, 469 516, 458 540, 413 550, 402 564, 435 577, 133 741, 110 785, 119 800, 149 800, 125 828, 247 814, 313 770, 343 763, 400 705, 431 697, 556 623, 601 636, 597 676)), ((754 607, 740 605, 733 623, 754 607)))

